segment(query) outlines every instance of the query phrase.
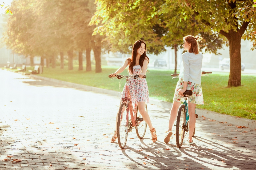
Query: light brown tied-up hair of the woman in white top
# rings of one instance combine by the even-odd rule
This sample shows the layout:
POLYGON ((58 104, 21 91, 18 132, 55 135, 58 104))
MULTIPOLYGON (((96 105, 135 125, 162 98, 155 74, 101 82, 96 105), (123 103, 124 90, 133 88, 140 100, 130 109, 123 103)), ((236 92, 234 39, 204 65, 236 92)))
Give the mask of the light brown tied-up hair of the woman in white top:
POLYGON ((194 53, 194 54, 199 54, 200 51, 200 46, 199 42, 203 39, 200 35, 197 36, 192 36, 192 35, 187 35, 186 37, 183 37, 183 40, 185 40, 188 44, 191 44, 191 47, 189 49, 189 53, 194 53))

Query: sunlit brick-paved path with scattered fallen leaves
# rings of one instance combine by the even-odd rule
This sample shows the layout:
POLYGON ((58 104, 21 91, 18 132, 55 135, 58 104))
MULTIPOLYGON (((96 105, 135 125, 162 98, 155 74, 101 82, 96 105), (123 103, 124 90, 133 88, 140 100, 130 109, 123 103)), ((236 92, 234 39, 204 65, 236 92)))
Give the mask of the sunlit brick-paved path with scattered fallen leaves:
POLYGON ((4 70, 0 80, 1 170, 256 169, 254 129, 199 117, 195 144, 177 148, 173 137, 163 142, 170 110, 149 104, 158 141, 149 128, 141 140, 133 130, 121 150, 109 142, 119 98, 4 70))

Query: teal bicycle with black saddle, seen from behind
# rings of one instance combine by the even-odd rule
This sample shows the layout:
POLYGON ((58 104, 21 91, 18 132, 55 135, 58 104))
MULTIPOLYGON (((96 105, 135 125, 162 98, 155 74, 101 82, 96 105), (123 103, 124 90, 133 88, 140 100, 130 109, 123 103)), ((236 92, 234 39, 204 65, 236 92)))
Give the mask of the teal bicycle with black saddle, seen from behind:
MULTIPOLYGON (((204 74, 210 74, 211 72, 205 72, 202 71, 202 75, 204 74)), ((171 76, 174 76, 173 78, 178 78, 179 74, 172 74, 171 76)), ((192 91, 186 90, 183 93, 183 97, 185 98, 185 101, 183 104, 179 106, 177 120, 174 124, 176 126, 176 145, 178 148, 182 146, 183 139, 185 137, 185 132, 189 131, 189 110, 188 110, 188 104, 187 104, 187 97, 192 95, 192 91)), ((198 115, 195 114, 195 118, 198 118, 198 115)), ((193 135, 195 135, 195 129, 193 132, 193 135)))

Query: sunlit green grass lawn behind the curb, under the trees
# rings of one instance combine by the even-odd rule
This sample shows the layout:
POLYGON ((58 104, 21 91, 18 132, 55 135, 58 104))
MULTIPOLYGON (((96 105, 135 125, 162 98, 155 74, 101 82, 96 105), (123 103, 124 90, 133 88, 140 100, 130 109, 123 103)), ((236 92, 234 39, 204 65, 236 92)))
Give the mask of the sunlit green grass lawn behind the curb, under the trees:
MULTIPOLYGON (((120 80, 108 78, 108 75, 115 72, 117 68, 102 66, 102 73, 96 74, 94 70, 78 71, 78 66, 74 66, 74 70, 68 70, 67 67, 65 69, 44 67, 43 74, 40 76, 119 91, 120 80)), ((178 81, 177 78, 172 79, 171 74, 173 73, 173 71, 149 68, 146 80, 150 97, 173 102, 174 90, 178 81)), ((127 75, 127 70, 122 74, 127 75)), ((228 79, 228 73, 203 76, 201 82, 205 104, 197 105, 197 108, 256 120, 256 89, 253 88, 256 87, 256 76, 242 75, 242 86, 232 88, 227 88, 228 79)), ((121 85, 121 90, 124 84, 125 80, 121 85)))

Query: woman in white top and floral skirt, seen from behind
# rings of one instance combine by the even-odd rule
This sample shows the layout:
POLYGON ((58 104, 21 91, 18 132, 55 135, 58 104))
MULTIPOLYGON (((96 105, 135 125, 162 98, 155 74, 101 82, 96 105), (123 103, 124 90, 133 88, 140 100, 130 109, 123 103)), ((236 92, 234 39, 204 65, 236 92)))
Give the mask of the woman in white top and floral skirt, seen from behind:
POLYGON ((189 138, 188 144, 192 145, 193 131, 195 128, 195 107, 197 104, 203 104, 203 92, 201 87, 201 69, 203 62, 203 55, 199 52, 199 42, 202 37, 187 35, 183 37, 184 44, 182 45, 185 52, 182 54, 181 71, 179 73, 179 81, 177 83, 174 97, 173 106, 170 111, 169 118, 169 129, 167 135, 165 136, 165 143, 170 141, 172 133, 172 127, 175 119, 177 118, 178 108, 181 101, 184 101, 183 93, 186 90, 193 92, 191 96, 188 97, 189 105, 189 138))

